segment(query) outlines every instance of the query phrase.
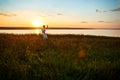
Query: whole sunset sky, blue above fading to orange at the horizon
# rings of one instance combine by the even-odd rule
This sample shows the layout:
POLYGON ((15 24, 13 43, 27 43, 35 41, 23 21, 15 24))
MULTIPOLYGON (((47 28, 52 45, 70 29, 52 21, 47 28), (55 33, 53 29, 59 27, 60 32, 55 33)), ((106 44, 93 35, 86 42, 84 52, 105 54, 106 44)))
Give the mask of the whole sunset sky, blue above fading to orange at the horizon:
POLYGON ((120 0, 0 0, 0 27, 120 28, 119 16, 120 0))

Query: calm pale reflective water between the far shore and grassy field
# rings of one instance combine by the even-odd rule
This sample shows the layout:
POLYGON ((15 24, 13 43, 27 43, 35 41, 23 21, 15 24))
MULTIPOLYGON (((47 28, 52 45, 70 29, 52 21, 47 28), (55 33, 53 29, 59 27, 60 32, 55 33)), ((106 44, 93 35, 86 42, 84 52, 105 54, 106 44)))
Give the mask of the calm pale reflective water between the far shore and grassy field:
MULTIPOLYGON (((41 34, 41 30, 0 30, 0 33, 8 34, 41 34)), ((76 35, 95 35, 120 37, 120 29, 47 29, 47 34, 76 34, 76 35)))

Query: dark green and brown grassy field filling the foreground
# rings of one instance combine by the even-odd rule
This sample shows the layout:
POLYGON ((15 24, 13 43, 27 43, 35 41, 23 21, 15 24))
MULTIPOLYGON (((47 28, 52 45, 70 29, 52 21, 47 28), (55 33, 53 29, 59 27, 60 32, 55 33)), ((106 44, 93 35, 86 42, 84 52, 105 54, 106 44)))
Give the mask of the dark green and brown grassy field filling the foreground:
POLYGON ((2 80, 120 80, 120 37, 0 34, 2 80))

